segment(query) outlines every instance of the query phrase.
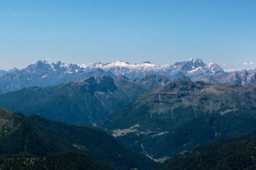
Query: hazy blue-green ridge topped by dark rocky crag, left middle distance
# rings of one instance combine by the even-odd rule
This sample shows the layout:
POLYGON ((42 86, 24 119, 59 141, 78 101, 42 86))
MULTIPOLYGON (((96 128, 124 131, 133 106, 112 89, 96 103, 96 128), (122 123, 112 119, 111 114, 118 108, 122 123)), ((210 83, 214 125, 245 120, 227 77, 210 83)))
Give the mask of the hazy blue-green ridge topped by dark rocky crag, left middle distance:
POLYGON ((118 77, 91 77, 53 87, 30 87, 0 95, 0 107, 38 114, 68 124, 92 124, 146 91, 141 85, 118 77), (117 84, 117 85, 116 85, 117 84))

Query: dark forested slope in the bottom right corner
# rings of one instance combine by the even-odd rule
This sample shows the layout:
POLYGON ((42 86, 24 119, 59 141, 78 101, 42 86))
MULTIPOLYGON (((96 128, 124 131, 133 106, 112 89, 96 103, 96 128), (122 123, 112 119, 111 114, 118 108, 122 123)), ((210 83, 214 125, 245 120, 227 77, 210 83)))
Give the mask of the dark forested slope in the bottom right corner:
POLYGON ((175 155, 161 169, 255 169, 255 148, 255 132, 224 138, 175 155))

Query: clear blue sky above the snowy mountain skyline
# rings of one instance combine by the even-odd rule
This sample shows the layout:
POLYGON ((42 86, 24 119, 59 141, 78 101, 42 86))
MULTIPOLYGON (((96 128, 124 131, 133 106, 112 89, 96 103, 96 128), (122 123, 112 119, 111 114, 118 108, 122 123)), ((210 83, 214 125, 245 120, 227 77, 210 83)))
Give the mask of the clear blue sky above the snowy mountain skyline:
POLYGON ((256 69, 256 1, 0 0, 0 69, 189 58, 256 69))

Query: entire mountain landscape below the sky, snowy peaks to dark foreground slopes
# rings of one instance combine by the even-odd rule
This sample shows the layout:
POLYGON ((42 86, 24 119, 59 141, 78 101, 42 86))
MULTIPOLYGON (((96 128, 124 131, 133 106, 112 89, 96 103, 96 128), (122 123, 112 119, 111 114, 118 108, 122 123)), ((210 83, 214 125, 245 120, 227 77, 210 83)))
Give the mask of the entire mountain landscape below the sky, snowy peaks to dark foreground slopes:
POLYGON ((76 169, 156 169, 166 160, 163 169, 228 167, 222 149, 254 157, 245 144, 254 146, 255 135, 236 135, 256 130, 255 73, 195 58, 91 67, 38 61, 0 71, 0 108, 7 109, 0 110, 0 169, 51 169, 59 161, 76 169), (214 167, 205 159, 212 154, 226 162, 214 167))

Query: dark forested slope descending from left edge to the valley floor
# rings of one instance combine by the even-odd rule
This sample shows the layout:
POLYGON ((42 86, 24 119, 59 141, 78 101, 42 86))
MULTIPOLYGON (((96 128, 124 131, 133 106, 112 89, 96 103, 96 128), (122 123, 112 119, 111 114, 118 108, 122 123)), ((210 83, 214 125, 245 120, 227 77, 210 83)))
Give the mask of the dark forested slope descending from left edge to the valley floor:
POLYGON ((45 157, 64 151, 88 155, 115 169, 156 167, 146 157, 129 151, 99 130, 0 110, 0 155, 45 157))

